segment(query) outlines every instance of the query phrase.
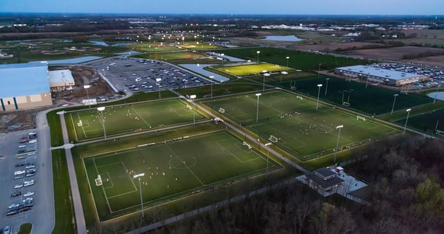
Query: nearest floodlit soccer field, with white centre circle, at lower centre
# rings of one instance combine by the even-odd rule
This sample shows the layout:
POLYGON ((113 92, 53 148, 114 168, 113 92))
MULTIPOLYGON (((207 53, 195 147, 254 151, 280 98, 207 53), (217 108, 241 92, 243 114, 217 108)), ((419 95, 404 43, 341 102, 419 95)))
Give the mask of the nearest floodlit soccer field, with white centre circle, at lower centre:
MULTIPOLYGON (((266 157, 225 131, 83 158, 103 221, 266 171, 266 157), (98 175, 102 186, 96 186, 98 175)), ((269 168, 278 167, 268 161, 269 168)))

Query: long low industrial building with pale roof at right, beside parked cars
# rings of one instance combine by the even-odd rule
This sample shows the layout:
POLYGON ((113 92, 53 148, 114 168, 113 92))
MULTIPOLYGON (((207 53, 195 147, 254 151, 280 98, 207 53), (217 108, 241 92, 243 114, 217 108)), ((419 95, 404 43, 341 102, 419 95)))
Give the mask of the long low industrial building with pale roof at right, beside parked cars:
POLYGON ((334 69, 334 73, 344 75, 346 78, 366 80, 368 82, 377 82, 390 86, 402 86, 414 82, 428 80, 427 75, 418 75, 415 73, 405 73, 402 71, 393 71, 382 69, 375 66, 344 66, 334 69))

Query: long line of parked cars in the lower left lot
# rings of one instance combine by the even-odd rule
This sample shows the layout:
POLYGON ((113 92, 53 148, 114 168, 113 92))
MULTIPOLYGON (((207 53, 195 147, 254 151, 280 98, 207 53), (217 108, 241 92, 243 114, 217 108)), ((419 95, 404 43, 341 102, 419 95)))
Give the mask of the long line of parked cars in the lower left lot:
POLYGON ((37 134, 31 132, 28 136, 19 138, 19 151, 17 152, 17 163, 15 164, 14 183, 10 194, 11 204, 6 209, 6 215, 17 215, 32 210, 34 204, 34 191, 32 188, 37 169, 35 168, 35 155, 37 150, 37 134), (31 150, 20 150, 31 149, 31 150))

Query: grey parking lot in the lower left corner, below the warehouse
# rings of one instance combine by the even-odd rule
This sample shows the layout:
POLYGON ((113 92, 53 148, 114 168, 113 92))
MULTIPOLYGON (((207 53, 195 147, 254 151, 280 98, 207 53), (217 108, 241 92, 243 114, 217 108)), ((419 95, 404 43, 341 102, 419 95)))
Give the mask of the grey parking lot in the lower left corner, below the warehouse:
MULTIPOLYGON (((46 141, 40 143, 38 135, 37 130, 1 134, 0 227, 11 226, 13 233, 23 223, 31 222, 35 225, 42 222, 42 215, 38 214, 53 212, 53 205, 48 206, 46 202, 53 203, 48 195, 48 192, 52 193, 52 188, 46 188, 53 186, 46 181, 47 174, 52 174, 52 170, 40 172, 47 168, 44 168, 42 162, 51 157, 44 159, 41 154, 40 147, 46 141)), ((42 152, 47 154, 49 149, 42 152)))

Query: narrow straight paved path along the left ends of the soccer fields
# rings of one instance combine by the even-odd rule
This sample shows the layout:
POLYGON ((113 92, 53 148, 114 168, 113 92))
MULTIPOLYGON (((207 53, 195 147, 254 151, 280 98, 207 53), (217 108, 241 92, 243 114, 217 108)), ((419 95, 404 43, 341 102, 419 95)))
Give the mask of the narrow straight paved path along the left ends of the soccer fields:
MULTIPOLYGON (((65 143, 65 145, 69 144, 69 138, 68 138, 67 127, 65 124, 64 114, 60 114, 60 123, 62 125, 63 142, 65 143)), ((67 156, 69 182, 71 183, 71 195, 72 195, 72 201, 74 203, 74 213, 76 215, 77 233, 87 233, 85 215, 83 214, 83 206, 82 206, 82 201, 80 199, 80 192, 78 190, 76 170, 74 168, 74 161, 72 160, 71 149, 70 148, 65 149, 65 154, 67 156)))

